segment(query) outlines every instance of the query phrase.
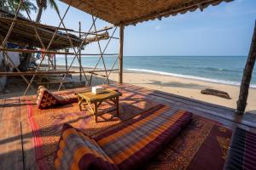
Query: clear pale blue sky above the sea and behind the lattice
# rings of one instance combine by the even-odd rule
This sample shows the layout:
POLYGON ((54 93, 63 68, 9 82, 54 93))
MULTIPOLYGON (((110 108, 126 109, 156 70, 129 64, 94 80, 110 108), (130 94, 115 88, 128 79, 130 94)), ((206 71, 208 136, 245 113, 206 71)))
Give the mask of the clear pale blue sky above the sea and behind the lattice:
MULTIPOLYGON (((57 1, 61 14, 67 5, 57 1)), ((32 14, 35 19, 35 14, 32 14)), ((196 10, 175 17, 163 18, 125 27, 125 55, 247 55, 256 20, 255 0, 235 0, 196 10)), ((91 16, 76 8, 70 8, 64 20, 68 28, 88 31, 91 16)), ((42 23, 57 26, 55 11, 44 11, 42 23)), ((97 28, 108 26, 97 20, 97 28)), ((111 32, 110 32, 111 33, 111 32)), ((118 36, 117 31, 115 36, 118 36)), ((101 42, 102 47, 106 44, 101 42)), ((87 53, 98 53, 97 44, 91 44, 87 53)), ((111 42, 107 53, 118 52, 118 41, 111 42)))

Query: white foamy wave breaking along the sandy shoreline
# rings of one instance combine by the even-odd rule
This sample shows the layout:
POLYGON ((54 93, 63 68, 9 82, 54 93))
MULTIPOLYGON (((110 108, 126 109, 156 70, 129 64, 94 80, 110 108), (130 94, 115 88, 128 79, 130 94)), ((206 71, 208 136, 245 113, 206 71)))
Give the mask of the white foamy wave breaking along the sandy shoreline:
MULTIPOLYGON (((137 72, 148 72, 148 73, 160 74, 160 75, 166 75, 166 76, 172 76, 172 77, 183 77, 183 78, 201 80, 201 81, 206 81, 206 82, 218 82, 218 83, 223 83, 223 84, 228 84, 228 85, 240 86, 240 82, 232 82, 232 81, 218 80, 218 79, 205 78, 205 77, 195 77, 195 76, 191 76, 191 75, 182 75, 182 74, 176 74, 176 73, 165 72, 165 71, 153 71, 153 70, 147 70, 147 69, 131 69, 131 68, 128 68, 125 70, 126 71, 137 71, 137 72)), ((251 84, 250 87, 256 88, 256 84, 251 84)))

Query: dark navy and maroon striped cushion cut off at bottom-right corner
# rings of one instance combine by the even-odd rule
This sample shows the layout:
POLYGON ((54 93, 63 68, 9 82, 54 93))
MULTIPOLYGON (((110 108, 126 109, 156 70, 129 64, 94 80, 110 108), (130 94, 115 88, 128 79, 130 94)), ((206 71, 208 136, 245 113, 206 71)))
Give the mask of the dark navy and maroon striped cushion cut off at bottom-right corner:
POLYGON ((256 133, 236 127, 224 169, 256 169, 256 133))

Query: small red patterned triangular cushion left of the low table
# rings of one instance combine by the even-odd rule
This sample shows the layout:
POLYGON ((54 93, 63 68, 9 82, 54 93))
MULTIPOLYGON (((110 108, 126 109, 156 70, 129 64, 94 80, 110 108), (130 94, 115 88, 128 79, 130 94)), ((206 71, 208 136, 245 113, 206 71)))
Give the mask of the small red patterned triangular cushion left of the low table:
POLYGON ((54 94, 51 94, 48 89, 39 87, 37 105, 38 109, 48 109, 57 104, 54 94))

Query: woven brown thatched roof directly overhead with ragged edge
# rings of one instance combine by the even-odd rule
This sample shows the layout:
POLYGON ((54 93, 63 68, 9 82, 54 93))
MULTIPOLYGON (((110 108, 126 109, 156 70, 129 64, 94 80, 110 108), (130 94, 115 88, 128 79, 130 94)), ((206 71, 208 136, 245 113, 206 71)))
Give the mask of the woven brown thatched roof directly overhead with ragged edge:
POLYGON ((210 4, 218 5, 233 0, 61 0, 115 26, 135 25, 145 20, 203 10, 210 4))

